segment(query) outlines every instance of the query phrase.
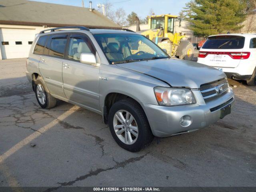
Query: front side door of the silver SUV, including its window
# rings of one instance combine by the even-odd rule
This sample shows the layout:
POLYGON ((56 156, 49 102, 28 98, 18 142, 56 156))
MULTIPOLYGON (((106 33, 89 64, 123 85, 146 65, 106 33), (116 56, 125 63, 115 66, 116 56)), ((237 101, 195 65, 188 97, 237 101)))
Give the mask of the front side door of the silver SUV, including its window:
POLYGON ((81 53, 95 54, 95 48, 85 35, 72 34, 67 60, 62 65, 63 89, 68 100, 99 110, 99 67, 80 63, 81 53))

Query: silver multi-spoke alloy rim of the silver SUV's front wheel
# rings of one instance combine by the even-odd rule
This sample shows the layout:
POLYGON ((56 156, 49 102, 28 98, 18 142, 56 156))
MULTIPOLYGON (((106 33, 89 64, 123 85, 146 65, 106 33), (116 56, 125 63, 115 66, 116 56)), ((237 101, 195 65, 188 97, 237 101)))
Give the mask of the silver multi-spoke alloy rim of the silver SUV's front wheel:
POLYGON ((132 114, 126 110, 119 110, 113 119, 116 136, 125 144, 134 144, 138 138, 138 124, 132 114))

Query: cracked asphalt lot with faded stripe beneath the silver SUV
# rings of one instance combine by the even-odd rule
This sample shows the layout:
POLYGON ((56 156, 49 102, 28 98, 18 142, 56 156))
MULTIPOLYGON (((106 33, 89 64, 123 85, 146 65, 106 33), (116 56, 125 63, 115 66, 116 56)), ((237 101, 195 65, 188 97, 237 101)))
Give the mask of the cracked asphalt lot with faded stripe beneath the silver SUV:
POLYGON ((0 186, 256 186, 255 87, 230 80, 232 114, 131 153, 98 114, 62 101, 41 109, 25 63, 0 60, 0 186))

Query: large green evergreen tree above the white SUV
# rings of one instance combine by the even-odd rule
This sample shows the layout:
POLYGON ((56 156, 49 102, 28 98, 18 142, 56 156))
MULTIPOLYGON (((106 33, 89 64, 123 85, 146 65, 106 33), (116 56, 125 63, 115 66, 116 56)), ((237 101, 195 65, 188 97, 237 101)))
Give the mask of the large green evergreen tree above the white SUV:
POLYGON ((236 32, 245 20, 246 3, 241 0, 192 0, 186 4, 186 20, 195 36, 236 32))

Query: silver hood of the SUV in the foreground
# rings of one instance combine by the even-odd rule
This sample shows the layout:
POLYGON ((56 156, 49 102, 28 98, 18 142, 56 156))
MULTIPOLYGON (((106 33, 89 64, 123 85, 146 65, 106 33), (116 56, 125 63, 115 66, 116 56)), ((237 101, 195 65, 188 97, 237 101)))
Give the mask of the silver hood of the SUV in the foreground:
POLYGON ((200 88, 200 85, 225 78, 213 67, 180 59, 156 59, 116 64, 163 80, 173 87, 200 88))

